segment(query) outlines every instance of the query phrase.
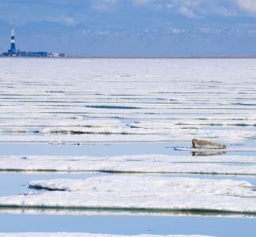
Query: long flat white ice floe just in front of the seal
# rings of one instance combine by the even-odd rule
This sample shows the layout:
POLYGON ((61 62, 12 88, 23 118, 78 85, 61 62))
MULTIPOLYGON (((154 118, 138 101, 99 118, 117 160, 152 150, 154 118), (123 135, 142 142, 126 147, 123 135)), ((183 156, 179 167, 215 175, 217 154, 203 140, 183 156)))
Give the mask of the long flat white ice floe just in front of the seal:
POLYGON ((256 156, 0 156, 0 171, 256 175, 256 156))

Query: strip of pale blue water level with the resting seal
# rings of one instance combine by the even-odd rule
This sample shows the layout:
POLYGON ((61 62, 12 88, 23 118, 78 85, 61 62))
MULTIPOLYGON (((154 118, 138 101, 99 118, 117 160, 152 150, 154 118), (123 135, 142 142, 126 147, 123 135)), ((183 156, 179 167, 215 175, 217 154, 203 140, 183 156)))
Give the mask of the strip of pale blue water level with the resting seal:
MULTIPOLYGON (((255 141, 234 148, 254 147, 255 141)), ((46 143, 0 143, 0 156, 122 156, 136 154, 166 154, 192 156, 190 151, 175 150, 177 147, 190 147, 189 142, 148 142, 148 143, 107 143, 86 145, 49 145, 46 143)), ((256 152, 227 152, 224 155, 256 156, 256 152)))

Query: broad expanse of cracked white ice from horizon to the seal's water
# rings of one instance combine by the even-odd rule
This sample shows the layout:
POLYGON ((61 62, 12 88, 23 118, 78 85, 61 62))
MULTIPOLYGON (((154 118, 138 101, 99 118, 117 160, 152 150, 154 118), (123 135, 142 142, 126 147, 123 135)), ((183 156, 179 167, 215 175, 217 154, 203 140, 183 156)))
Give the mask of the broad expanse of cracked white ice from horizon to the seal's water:
POLYGON ((0 142, 256 137, 255 59, 0 63, 0 142))

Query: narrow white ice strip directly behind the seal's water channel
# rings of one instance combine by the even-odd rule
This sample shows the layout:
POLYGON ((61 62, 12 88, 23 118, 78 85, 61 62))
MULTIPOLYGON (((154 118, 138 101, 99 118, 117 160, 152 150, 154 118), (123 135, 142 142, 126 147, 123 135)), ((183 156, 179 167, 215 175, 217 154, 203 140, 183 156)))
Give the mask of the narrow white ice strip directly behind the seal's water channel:
MULTIPOLYGON (((15 132, 15 130, 11 130, 15 132)), ((19 131, 19 130, 17 130, 19 131)), ((45 128, 37 134, 0 133, 0 142, 62 142, 62 143, 96 143, 96 142, 160 142, 160 141, 186 141, 194 137, 201 139, 235 143, 247 141, 256 137, 256 130, 197 130, 180 128, 169 130, 141 129, 141 128, 85 128, 63 129, 45 128)))

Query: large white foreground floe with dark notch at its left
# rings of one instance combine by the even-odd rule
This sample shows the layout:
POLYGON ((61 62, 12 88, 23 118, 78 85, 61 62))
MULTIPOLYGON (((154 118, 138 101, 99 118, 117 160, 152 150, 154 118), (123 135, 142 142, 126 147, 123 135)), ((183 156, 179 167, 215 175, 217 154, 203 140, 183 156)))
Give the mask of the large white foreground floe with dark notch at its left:
POLYGON ((0 198, 2 208, 256 213, 250 182, 157 176, 101 176, 29 183, 40 194, 0 198))

